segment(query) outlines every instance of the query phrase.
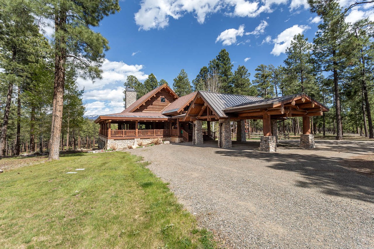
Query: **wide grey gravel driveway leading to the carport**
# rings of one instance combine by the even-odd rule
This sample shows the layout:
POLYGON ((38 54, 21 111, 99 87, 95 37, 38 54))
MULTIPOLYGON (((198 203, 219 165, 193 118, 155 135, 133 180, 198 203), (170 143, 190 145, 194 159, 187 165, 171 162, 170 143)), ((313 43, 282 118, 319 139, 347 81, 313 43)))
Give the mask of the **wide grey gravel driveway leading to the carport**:
POLYGON ((258 141, 230 149, 210 141, 131 152, 151 162, 225 246, 374 248, 374 177, 349 169, 356 162, 372 166, 365 154, 373 145, 316 141, 316 149, 303 150, 297 140, 283 140, 276 153, 266 153, 258 141))

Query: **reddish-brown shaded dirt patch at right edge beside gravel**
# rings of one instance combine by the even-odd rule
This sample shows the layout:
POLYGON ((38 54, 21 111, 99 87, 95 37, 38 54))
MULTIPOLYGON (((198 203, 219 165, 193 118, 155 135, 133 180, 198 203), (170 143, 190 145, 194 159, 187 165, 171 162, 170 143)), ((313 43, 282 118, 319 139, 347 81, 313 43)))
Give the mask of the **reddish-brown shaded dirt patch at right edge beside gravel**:
POLYGON ((374 154, 345 159, 341 166, 366 176, 374 177, 374 154))

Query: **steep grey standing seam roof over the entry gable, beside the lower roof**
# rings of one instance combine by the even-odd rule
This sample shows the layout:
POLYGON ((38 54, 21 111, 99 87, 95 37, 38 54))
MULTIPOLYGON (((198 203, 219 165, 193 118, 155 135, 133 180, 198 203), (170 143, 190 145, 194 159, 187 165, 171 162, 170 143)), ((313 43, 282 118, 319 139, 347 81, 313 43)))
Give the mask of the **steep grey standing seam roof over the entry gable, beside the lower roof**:
POLYGON ((234 105, 263 100, 261 97, 236 95, 229 93, 217 93, 199 91, 200 95, 212 107, 212 109, 221 117, 227 117, 222 109, 232 107, 234 105))

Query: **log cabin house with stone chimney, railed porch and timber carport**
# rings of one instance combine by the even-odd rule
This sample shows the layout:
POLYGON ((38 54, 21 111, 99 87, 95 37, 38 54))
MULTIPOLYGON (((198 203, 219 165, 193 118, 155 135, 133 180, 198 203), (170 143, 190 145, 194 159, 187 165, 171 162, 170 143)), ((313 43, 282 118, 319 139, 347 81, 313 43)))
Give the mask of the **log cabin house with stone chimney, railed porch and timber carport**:
POLYGON ((300 147, 314 148, 310 134, 310 116, 321 116, 329 109, 304 93, 263 99, 254 96, 197 91, 179 97, 166 84, 148 92, 138 100, 133 88, 125 90, 125 110, 100 115, 99 147, 127 148, 149 144, 152 138, 170 142, 203 144, 218 138, 218 147, 232 147, 230 122, 237 122, 237 141, 246 141, 245 120, 262 119, 264 136, 260 150, 276 150, 276 122, 288 117, 303 117, 300 147), (206 122, 207 129, 203 129, 206 122), (218 131, 211 130, 218 122, 218 131), (118 124, 111 129, 111 124, 118 124))

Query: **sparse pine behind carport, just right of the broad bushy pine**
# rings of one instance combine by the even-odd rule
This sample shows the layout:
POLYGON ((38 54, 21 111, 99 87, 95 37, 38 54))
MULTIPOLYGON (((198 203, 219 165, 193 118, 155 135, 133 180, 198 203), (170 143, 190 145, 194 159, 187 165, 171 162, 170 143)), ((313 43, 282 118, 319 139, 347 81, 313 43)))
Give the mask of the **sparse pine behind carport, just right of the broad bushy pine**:
POLYGON ((257 87, 259 95, 265 99, 274 96, 274 88, 271 84, 271 72, 264 64, 259 65, 256 69, 255 79, 252 83, 257 87))

